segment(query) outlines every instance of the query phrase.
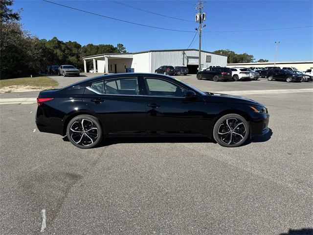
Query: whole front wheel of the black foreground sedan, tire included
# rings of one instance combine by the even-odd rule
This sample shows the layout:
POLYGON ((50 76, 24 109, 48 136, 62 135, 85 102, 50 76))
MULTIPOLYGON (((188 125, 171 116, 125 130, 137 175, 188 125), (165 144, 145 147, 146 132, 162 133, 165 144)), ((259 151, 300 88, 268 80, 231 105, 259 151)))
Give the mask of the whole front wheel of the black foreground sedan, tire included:
POLYGON ((238 114, 224 115, 217 120, 213 128, 214 140, 224 147, 238 147, 245 143, 248 137, 248 122, 238 114))

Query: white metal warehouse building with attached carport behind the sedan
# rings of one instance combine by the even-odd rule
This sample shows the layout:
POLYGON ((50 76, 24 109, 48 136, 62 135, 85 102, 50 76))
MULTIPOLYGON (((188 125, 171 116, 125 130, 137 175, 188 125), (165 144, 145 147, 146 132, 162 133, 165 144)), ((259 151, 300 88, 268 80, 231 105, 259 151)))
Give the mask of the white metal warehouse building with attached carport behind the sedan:
MULTIPOLYGON (((134 72, 155 72, 163 65, 186 66, 189 73, 197 73, 199 50, 147 50, 134 53, 108 53, 83 57, 84 69, 87 72, 87 61, 93 62, 93 69, 99 73, 126 72, 133 68, 134 72)), ((225 67, 227 56, 201 51, 201 68, 209 66, 225 67)))

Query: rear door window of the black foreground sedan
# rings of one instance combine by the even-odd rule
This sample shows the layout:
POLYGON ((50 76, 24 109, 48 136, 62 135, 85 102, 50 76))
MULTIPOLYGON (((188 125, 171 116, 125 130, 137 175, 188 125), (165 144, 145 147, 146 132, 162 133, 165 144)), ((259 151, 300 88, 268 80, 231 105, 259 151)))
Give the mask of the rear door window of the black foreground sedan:
POLYGON ((137 77, 108 79, 104 82, 105 94, 139 95, 137 77))

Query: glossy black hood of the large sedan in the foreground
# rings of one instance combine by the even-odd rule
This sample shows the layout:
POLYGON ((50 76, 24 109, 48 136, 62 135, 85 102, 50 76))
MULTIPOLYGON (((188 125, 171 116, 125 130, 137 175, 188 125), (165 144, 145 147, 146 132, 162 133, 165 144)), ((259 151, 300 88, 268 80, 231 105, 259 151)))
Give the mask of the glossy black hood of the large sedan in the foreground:
POLYGON ((237 96, 237 95, 231 95, 231 94, 221 94, 221 93, 208 93, 210 95, 207 95, 208 101, 216 101, 216 102, 226 102, 226 103, 241 103, 241 104, 249 104, 249 105, 258 105, 265 107, 263 104, 256 102, 252 99, 237 96))

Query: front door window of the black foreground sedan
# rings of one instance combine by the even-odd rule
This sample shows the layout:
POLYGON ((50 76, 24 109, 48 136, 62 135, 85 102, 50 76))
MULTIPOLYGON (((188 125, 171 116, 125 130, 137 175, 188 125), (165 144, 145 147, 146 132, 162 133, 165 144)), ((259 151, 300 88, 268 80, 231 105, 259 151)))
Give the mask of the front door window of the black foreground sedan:
POLYGON ((187 90, 163 79, 154 77, 144 78, 148 95, 184 97, 187 90))

